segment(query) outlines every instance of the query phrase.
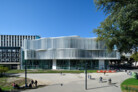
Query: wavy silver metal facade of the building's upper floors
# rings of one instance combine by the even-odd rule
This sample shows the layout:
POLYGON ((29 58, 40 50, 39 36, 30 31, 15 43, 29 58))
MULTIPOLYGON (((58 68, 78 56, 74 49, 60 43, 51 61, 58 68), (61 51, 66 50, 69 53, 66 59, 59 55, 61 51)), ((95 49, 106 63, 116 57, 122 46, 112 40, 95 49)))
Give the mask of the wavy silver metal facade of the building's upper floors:
POLYGON ((25 59, 119 59, 119 53, 107 52, 96 38, 51 37, 24 40, 25 59))

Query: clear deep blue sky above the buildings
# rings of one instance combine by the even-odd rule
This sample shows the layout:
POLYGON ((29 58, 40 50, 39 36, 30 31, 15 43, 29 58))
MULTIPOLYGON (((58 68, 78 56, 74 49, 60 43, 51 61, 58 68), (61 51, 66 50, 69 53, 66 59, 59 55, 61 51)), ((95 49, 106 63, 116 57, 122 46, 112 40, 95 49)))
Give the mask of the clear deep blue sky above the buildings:
POLYGON ((93 0, 0 0, 0 34, 96 37, 105 18, 93 0))

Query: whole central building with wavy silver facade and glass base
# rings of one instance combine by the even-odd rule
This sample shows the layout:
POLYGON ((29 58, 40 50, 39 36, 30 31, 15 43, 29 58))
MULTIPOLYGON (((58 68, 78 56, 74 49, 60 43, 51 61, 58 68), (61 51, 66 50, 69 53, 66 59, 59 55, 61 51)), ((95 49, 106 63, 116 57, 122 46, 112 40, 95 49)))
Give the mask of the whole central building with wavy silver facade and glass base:
POLYGON ((120 54, 108 52, 104 41, 79 36, 50 37, 24 40, 21 68, 28 69, 106 69, 109 60, 120 59, 120 54))

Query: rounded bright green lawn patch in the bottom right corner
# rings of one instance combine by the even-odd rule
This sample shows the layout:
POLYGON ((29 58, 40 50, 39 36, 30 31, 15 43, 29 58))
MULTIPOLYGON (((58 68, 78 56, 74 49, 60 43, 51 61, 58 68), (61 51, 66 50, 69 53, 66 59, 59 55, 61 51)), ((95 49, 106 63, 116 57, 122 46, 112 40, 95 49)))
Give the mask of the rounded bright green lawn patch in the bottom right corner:
POLYGON ((121 89, 125 90, 125 87, 131 87, 138 89, 138 80, 135 78, 129 78, 122 82, 121 89))

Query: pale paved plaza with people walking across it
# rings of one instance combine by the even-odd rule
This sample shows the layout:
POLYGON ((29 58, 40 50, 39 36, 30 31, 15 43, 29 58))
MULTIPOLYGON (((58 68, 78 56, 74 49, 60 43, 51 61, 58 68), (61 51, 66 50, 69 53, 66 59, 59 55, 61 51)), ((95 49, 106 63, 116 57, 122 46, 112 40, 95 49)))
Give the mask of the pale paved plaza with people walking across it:
MULTIPOLYGON (((92 79, 88 79, 88 89, 85 90, 85 74, 60 74, 60 73, 39 73, 28 74, 28 78, 38 80, 39 84, 47 86, 26 90, 24 92, 121 92, 120 84, 129 78, 125 72, 117 73, 89 73, 92 79), (99 77, 103 77, 103 82, 99 83, 99 77), (112 84, 108 84, 108 79, 112 79, 112 84), (63 84, 63 86, 61 86, 63 84)), ((24 77, 24 74, 19 74, 24 77)))

